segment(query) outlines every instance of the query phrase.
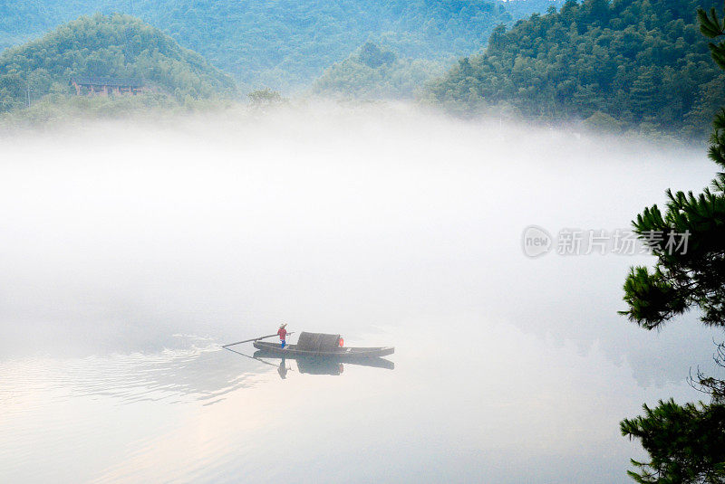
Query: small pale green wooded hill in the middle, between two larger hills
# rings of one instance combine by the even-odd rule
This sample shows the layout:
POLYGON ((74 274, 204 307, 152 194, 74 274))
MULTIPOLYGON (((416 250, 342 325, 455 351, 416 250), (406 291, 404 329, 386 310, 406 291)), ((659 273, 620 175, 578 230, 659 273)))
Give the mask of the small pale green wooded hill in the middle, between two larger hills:
POLYGON ((365 43, 314 81, 317 95, 359 100, 412 99, 426 81, 443 72, 441 62, 402 57, 385 46, 365 43))

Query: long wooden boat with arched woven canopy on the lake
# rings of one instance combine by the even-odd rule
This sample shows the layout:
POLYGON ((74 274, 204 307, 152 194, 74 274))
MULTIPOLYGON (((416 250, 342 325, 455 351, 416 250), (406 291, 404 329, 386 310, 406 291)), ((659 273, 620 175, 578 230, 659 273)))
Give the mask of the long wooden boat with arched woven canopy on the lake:
POLYGON ((379 347, 343 347, 338 346, 340 335, 326 335, 323 333, 300 334, 296 345, 286 345, 282 348, 281 343, 266 343, 255 341, 256 349, 267 355, 274 356, 324 356, 336 358, 338 361, 345 359, 377 358, 392 355, 395 348, 392 346, 379 347))

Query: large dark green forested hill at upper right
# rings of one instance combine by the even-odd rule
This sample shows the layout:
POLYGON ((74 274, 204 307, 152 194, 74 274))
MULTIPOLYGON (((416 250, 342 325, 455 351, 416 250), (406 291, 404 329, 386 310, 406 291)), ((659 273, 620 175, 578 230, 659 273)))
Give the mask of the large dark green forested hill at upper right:
POLYGON ((498 27, 430 90, 451 109, 509 107, 527 117, 697 134, 725 99, 696 10, 710 0, 569 0, 498 27))

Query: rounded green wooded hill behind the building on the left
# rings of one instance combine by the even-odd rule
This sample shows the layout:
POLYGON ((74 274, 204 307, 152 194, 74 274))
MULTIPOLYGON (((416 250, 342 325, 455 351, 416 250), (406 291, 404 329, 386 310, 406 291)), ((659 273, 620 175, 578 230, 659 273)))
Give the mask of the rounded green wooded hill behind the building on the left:
POLYGON ((81 17, 0 54, 0 111, 31 93, 71 93, 75 76, 143 79, 178 100, 231 94, 234 81, 198 53, 128 15, 81 17))

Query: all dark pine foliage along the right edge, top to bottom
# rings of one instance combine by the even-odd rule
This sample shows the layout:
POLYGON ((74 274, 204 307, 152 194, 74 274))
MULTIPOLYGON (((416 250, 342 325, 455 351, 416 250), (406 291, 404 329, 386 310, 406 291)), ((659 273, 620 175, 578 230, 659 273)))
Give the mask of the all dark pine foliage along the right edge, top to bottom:
MULTIPOLYGON (((725 14, 725 11, 723 12, 725 14)), ((701 33, 710 39, 725 34, 725 23, 714 9, 699 10, 701 33)), ((713 60, 725 70, 725 43, 709 43, 713 60)), ((725 166, 725 109, 713 122, 710 158, 725 166)), ((725 174, 701 194, 667 192, 662 212, 645 208, 634 230, 652 247, 653 270, 635 267, 624 282, 628 318, 646 329, 661 327, 689 308, 701 312, 707 325, 725 327, 725 174), (686 250, 666 250, 664 238, 652 233, 690 233, 686 250)), ((715 356, 725 367, 725 345, 715 356)), ((699 370, 693 386, 710 394, 710 403, 680 405, 660 401, 644 405, 644 414, 621 422, 623 435, 642 441, 648 462, 632 460, 628 473, 643 483, 725 483, 725 381, 699 370)))

